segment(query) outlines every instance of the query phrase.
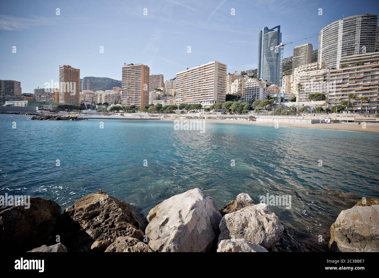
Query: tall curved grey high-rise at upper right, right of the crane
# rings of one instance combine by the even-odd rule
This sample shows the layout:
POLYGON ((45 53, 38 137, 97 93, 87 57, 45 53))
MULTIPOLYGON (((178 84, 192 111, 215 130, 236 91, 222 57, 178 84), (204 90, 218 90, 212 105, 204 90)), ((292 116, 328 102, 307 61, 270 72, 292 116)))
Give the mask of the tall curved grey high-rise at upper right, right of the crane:
POLYGON ((318 62, 340 68, 341 57, 375 50, 377 14, 361 14, 337 20, 318 35, 318 62))

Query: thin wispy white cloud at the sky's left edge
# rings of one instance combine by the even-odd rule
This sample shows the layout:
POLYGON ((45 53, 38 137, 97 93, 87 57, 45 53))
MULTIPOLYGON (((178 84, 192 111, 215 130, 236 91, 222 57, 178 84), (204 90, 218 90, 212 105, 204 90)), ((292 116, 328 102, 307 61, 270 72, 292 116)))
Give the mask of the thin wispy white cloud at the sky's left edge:
POLYGON ((32 17, 30 19, 0 15, 0 30, 4 31, 23 31, 34 26, 55 25, 55 20, 45 17, 32 17))

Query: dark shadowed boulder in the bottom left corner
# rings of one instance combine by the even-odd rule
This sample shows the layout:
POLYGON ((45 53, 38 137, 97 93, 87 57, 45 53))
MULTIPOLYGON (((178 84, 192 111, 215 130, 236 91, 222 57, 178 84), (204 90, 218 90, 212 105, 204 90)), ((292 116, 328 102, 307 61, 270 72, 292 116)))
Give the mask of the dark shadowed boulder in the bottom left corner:
POLYGON ((52 200, 30 198, 30 208, 0 207, 0 242, 3 250, 27 251, 54 242, 61 206, 52 200))

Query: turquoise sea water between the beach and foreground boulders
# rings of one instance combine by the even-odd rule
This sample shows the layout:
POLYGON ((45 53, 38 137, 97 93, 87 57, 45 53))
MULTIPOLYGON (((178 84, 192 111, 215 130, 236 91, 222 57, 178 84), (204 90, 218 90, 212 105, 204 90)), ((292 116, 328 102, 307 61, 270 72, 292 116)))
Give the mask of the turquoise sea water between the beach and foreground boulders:
POLYGON ((206 123, 202 134, 163 120, 28 118, 0 115, 0 195, 44 197, 64 209, 101 188, 144 216, 195 187, 219 207, 241 192, 255 203, 291 195, 291 209, 271 207, 286 228, 278 250, 327 250, 340 211, 379 197, 378 134, 224 123, 206 123))

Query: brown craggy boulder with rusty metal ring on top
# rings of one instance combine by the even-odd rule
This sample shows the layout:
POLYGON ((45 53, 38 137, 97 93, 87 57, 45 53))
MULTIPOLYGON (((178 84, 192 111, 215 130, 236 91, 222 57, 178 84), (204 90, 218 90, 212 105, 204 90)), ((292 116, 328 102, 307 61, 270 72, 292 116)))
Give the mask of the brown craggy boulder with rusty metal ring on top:
POLYGON ((128 203, 89 194, 64 210, 61 242, 73 252, 103 251, 119 236, 142 240, 140 221, 128 203))

